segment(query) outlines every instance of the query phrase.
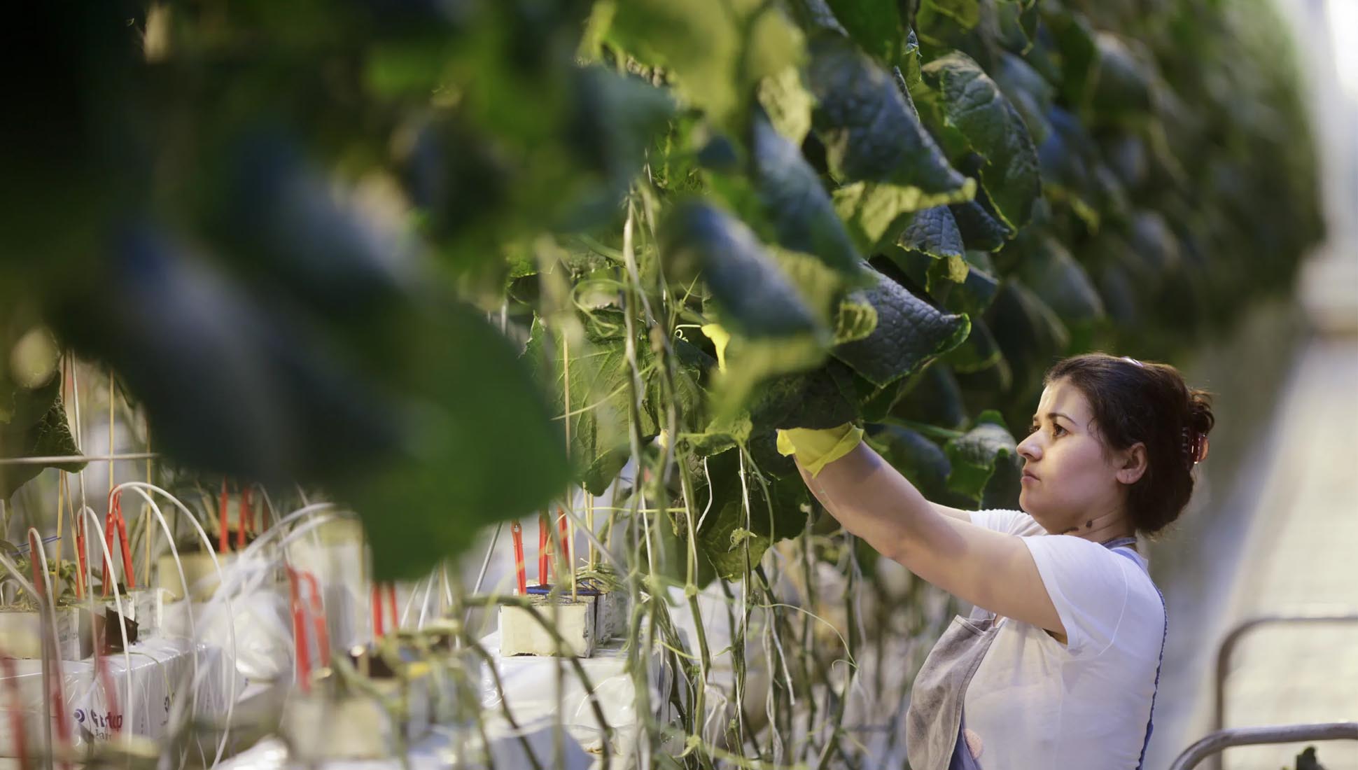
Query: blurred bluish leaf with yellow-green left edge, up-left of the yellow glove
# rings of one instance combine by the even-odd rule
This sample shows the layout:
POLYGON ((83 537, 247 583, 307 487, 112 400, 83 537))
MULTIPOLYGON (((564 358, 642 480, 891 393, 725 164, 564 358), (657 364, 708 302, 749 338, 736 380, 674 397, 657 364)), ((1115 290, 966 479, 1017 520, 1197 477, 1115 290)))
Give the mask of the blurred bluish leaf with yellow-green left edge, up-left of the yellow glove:
POLYGON ((663 224, 660 249, 675 285, 702 276, 732 331, 758 338, 818 330, 759 238, 727 212, 701 202, 676 205, 663 224))

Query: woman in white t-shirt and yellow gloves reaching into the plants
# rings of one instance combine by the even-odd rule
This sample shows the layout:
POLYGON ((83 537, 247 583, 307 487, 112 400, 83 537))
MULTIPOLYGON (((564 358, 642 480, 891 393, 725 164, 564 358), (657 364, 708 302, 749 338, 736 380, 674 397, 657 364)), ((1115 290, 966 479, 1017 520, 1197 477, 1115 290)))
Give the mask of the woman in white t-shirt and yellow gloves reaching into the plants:
POLYGON ((1209 394, 1165 364, 1058 363, 1019 443, 1020 511, 929 502, 841 425, 790 429, 807 486, 846 530, 975 606, 910 694, 913 770, 1131 769, 1150 740, 1164 598, 1137 535, 1172 523, 1207 456, 1209 394))

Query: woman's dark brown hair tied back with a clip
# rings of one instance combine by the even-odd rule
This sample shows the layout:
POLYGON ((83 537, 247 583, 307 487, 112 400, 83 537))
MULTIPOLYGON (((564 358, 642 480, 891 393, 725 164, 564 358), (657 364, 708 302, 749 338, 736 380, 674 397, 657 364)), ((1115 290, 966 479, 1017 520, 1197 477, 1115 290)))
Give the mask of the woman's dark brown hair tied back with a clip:
POLYGON ((1127 490, 1127 515, 1137 531, 1154 535, 1173 523, 1192 497, 1192 469, 1206 458, 1206 437, 1215 424, 1213 394, 1188 387, 1169 364, 1107 353, 1065 359, 1043 384, 1062 378, 1089 402, 1104 451, 1146 445, 1146 473, 1127 490))

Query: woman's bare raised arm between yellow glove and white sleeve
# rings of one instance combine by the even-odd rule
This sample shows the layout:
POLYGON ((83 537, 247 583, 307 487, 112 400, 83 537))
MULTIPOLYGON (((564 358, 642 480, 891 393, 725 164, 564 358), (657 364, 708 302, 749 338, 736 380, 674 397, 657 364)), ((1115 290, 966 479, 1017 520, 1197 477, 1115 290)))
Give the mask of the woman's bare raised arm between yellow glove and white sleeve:
POLYGON ((964 602, 1065 634, 1020 538, 940 511, 866 443, 815 478, 800 462, 797 470, 826 511, 877 553, 964 602))

